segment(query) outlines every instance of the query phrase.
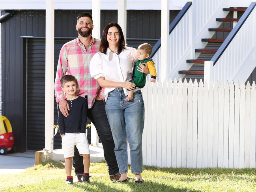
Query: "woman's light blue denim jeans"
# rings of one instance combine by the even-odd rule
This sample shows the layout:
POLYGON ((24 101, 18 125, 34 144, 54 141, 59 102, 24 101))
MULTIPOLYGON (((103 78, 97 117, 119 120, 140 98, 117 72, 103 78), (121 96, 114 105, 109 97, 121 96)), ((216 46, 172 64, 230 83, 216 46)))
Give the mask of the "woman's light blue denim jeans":
POLYGON ((128 172, 127 142, 131 153, 131 171, 142 173, 142 132, 144 128, 144 101, 141 91, 133 94, 133 100, 124 101, 123 88, 108 94, 106 113, 112 131, 115 154, 121 174, 128 172))

